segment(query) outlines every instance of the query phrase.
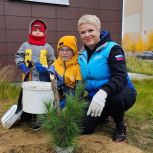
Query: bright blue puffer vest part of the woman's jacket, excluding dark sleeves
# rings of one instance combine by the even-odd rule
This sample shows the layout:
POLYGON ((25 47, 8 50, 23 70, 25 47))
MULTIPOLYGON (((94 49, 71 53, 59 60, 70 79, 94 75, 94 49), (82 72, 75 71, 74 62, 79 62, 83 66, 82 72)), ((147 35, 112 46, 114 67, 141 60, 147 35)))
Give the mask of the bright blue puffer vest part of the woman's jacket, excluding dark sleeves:
POLYGON ((87 81, 87 91, 97 91, 110 80, 111 73, 107 60, 114 45, 117 44, 111 41, 98 48, 92 54, 89 63, 86 60, 86 50, 79 56, 78 62, 83 80, 87 81))

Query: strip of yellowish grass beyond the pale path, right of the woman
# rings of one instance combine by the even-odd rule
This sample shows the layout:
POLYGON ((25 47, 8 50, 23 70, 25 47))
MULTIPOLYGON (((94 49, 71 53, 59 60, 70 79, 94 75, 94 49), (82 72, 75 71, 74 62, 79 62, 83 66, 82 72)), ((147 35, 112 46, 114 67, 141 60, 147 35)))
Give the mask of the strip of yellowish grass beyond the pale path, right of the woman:
POLYGON ((153 61, 137 59, 136 57, 127 57, 127 70, 133 73, 142 73, 153 75, 153 61))

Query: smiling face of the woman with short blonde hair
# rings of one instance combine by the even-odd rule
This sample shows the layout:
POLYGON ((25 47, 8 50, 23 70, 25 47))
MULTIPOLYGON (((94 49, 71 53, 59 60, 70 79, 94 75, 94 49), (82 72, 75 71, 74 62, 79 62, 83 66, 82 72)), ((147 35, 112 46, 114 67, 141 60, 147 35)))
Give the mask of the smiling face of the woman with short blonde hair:
POLYGON ((79 26, 79 34, 84 45, 93 49, 100 41, 100 31, 91 24, 82 24, 79 26))

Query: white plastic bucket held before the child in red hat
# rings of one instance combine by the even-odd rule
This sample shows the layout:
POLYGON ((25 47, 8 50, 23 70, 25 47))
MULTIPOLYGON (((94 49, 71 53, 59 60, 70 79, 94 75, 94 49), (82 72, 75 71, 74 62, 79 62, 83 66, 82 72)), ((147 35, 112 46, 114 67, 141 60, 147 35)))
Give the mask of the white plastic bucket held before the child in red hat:
POLYGON ((23 111, 31 114, 45 114, 45 103, 53 105, 54 94, 50 82, 28 81, 22 83, 23 111))

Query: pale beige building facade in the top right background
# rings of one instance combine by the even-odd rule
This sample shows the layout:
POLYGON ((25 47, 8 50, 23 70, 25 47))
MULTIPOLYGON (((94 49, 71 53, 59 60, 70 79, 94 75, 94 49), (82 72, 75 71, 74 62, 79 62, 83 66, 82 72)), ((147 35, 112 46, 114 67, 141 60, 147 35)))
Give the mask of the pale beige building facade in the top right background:
POLYGON ((124 0, 123 36, 137 39, 153 30, 153 0, 124 0))

